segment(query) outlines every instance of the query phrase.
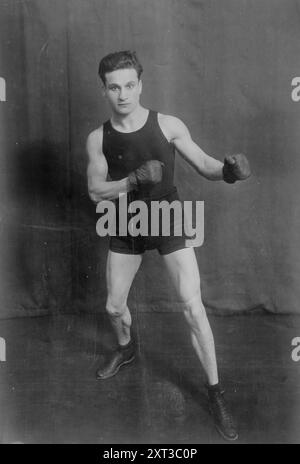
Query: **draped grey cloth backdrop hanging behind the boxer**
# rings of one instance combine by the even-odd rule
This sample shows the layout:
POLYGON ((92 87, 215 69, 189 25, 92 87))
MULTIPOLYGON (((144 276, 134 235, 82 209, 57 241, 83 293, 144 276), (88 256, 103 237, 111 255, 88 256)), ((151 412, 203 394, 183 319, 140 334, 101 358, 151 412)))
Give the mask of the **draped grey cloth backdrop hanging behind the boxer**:
MULTIPOLYGON (((142 103, 176 115, 247 182, 209 182, 176 155, 185 200, 205 202, 196 249, 209 311, 300 312, 300 5, 295 0, 0 0, 0 317, 103 311, 108 239, 96 234, 85 141, 109 117, 99 60, 136 50, 142 103)), ((180 309, 156 251, 130 305, 180 309)))

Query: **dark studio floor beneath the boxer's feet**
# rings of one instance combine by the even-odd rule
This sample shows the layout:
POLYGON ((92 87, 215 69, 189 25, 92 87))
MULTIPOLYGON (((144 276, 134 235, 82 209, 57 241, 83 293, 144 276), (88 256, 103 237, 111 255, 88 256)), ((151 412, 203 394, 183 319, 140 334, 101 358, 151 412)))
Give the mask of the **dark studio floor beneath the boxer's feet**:
MULTIPOLYGON (((220 375, 239 424, 235 443, 300 443, 300 317, 209 316, 220 375)), ((224 443, 180 313, 133 317, 138 359, 110 380, 95 371, 113 347, 104 314, 0 321, 1 443, 224 443)))

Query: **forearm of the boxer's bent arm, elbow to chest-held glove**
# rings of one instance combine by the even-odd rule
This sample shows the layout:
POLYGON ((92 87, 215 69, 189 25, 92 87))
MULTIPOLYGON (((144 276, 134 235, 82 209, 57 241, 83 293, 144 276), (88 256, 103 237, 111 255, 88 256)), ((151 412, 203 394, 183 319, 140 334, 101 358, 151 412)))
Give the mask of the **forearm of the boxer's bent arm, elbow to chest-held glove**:
POLYGON ((130 189, 127 177, 117 181, 92 180, 89 182, 89 195, 96 203, 102 200, 114 200, 120 194, 129 192, 130 189))

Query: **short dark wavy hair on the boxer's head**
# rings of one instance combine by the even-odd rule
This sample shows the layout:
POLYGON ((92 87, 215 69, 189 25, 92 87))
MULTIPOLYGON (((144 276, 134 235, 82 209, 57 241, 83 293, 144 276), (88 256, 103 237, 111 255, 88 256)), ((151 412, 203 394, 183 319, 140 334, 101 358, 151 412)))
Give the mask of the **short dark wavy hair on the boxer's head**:
POLYGON ((116 71, 117 69, 135 69, 140 79, 143 72, 143 67, 139 62, 139 59, 136 55, 136 52, 130 50, 125 50, 121 52, 110 53, 109 55, 104 56, 99 63, 98 74, 105 84, 105 74, 116 71))

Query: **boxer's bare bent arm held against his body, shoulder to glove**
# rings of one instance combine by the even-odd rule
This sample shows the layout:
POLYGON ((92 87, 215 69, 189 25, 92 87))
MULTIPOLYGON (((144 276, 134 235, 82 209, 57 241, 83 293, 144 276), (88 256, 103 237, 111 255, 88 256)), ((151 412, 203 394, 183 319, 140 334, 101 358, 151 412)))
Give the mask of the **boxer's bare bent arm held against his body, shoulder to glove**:
POLYGON ((88 191, 92 201, 98 203, 102 200, 113 200, 119 194, 130 190, 128 178, 118 181, 108 181, 108 167, 102 152, 102 129, 91 132, 86 143, 88 154, 88 191))

